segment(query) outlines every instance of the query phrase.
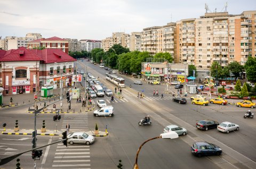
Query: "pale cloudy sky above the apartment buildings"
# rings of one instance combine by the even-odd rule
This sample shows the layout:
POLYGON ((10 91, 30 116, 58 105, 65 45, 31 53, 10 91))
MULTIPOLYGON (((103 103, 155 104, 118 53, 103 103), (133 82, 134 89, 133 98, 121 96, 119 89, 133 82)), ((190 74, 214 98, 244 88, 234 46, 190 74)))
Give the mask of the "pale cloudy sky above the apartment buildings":
POLYGON ((0 36, 102 40, 114 32, 142 31, 210 11, 229 14, 255 11, 255 0, 0 0, 0 36))

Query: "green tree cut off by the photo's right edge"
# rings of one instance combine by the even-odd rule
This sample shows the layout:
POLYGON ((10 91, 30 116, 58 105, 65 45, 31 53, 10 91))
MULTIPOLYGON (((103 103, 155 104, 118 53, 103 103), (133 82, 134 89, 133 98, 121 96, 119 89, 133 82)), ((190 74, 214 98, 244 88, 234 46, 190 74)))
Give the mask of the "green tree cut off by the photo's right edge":
POLYGON ((256 58, 248 57, 244 65, 246 77, 249 81, 256 82, 256 58))

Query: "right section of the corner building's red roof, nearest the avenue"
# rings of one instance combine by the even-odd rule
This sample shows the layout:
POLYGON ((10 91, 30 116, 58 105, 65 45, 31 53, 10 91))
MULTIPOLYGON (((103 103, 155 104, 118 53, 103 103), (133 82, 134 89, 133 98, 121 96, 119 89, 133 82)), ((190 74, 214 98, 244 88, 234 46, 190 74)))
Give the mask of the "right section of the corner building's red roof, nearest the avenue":
POLYGON ((65 52, 59 49, 30 50, 43 59, 43 63, 70 62, 76 61, 65 52))

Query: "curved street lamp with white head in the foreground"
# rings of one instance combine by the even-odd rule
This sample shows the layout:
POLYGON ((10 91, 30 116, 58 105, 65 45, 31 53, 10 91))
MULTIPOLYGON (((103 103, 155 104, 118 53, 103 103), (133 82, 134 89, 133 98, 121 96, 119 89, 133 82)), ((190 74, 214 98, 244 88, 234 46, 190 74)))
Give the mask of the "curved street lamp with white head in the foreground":
POLYGON ((135 163, 134 163, 134 165, 133 165, 133 169, 139 169, 139 166, 138 166, 138 156, 139 156, 139 152, 140 152, 140 150, 141 150, 141 148, 142 148, 142 146, 146 143, 146 142, 148 142, 148 141, 150 141, 150 140, 155 140, 155 139, 177 139, 179 137, 179 135, 176 133, 176 132, 173 132, 173 131, 170 131, 170 132, 167 132, 167 133, 162 133, 162 134, 160 134, 160 136, 156 136, 155 138, 151 138, 151 139, 148 139, 148 140, 146 140, 145 142, 143 142, 141 145, 140 145, 140 147, 139 147, 139 149, 138 149, 138 151, 137 151, 137 154, 136 154, 136 158, 135 158, 135 163))

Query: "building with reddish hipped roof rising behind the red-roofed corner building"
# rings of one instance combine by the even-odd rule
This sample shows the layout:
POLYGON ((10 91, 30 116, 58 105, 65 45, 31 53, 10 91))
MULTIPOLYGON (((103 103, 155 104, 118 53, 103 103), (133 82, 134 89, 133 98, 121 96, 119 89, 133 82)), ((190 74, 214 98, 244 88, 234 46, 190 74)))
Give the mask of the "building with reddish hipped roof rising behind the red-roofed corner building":
POLYGON ((45 47, 46 49, 60 49, 68 54, 68 41, 59 37, 41 38, 28 42, 27 49, 45 47))

